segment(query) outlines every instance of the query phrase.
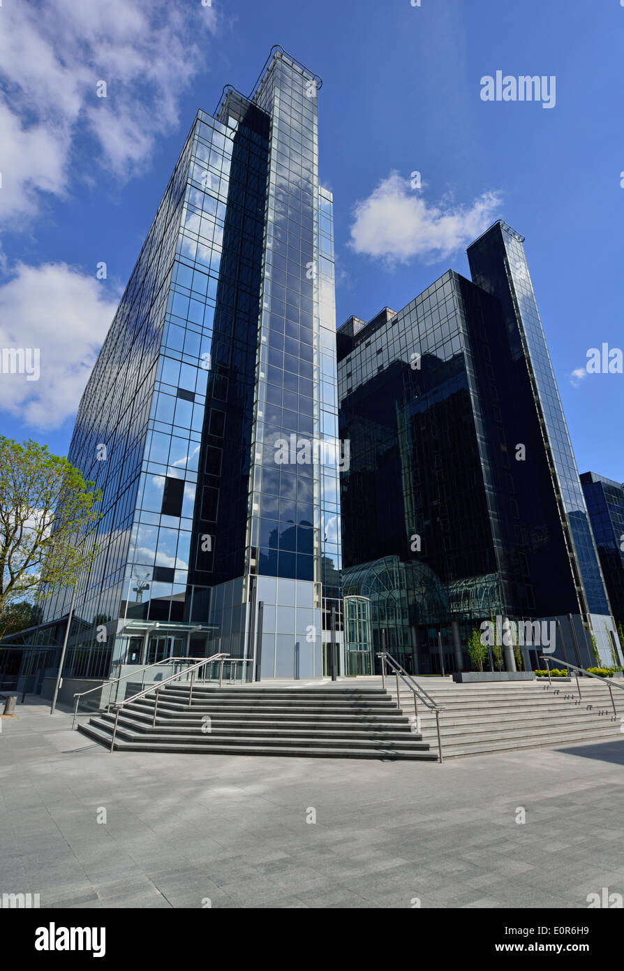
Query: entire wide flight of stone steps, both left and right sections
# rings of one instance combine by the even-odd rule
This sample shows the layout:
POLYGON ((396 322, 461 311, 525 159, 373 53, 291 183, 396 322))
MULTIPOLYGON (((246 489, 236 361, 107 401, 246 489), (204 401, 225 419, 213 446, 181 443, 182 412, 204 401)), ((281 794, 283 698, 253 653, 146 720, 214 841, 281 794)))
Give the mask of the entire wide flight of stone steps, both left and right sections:
MULTIPOLYGON (((434 713, 418 701, 419 734, 412 731, 413 694, 394 679, 380 686, 164 686, 119 713, 115 749, 122 751, 272 754, 319 757, 438 757, 434 713), (204 719, 211 731, 202 731, 204 719)), ((621 738, 608 686, 581 682, 463 686, 436 680, 425 689, 443 707, 445 758, 582 744, 621 738), (571 697, 566 698, 568 694, 571 697), (589 707, 591 706, 591 707, 589 707), (599 715, 598 712, 607 714, 599 715)), ((613 689, 618 715, 624 692, 613 689)), ((115 708, 82 723, 83 734, 110 747, 115 708)))

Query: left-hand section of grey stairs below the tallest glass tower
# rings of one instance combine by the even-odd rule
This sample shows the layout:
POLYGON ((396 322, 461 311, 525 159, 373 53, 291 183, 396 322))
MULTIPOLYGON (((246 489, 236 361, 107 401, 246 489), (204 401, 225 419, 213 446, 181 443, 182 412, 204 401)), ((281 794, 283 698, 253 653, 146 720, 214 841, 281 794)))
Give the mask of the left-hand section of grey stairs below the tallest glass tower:
MULTIPOLYGON (((380 686, 227 686, 176 683, 119 712, 115 750, 123 752, 304 755, 334 758, 438 758, 409 715, 380 686)), ((115 710, 79 731, 110 748, 115 710)))

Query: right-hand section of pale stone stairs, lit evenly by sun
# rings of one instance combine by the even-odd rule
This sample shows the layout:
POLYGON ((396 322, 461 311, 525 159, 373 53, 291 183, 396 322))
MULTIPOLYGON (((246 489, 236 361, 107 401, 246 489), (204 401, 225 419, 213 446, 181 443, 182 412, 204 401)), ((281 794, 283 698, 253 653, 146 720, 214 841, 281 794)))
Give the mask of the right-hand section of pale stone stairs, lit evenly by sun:
MULTIPOLYGON (((489 752, 512 752, 540 746, 568 746, 624 739, 624 691, 613 687, 617 719, 608 686, 581 678, 581 699, 576 683, 535 682, 457 685, 442 678, 422 679, 432 698, 443 705, 440 717, 444 758, 489 752)), ((619 680, 619 684, 624 682, 619 680)), ((416 678, 416 682, 418 679, 416 678)), ((386 687, 396 701, 394 678, 386 687)), ((401 686, 399 706, 414 719, 413 695, 401 686)), ((418 730, 423 741, 437 751, 436 719, 418 703, 418 730)))

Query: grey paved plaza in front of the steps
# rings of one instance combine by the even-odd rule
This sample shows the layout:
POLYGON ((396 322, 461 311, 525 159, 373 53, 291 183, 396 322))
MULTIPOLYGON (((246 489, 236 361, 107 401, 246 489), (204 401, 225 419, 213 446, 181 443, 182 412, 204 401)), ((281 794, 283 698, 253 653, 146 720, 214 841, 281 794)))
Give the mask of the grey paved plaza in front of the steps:
POLYGON ((624 735, 443 765, 111 754, 26 700, 1 720, 0 893, 41 907, 586 908, 624 893, 624 735))

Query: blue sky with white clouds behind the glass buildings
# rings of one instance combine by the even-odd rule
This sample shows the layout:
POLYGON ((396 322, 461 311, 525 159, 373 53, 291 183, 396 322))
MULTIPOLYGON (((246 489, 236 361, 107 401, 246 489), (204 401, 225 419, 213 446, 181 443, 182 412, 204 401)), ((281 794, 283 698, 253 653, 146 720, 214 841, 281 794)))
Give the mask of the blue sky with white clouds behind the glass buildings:
POLYGON ((624 481, 624 375, 585 371, 590 348, 624 340, 623 38, 619 0, 5 0, 0 343, 40 347, 42 373, 0 375, 2 432, 67 451, 196 110, 224 84, 248 92, 280 44, 323 78, 338 323, 400 309, 448 267, 469 276, 475 230, 505 218, 526 237, 579 471, 624 481), (481 100, 497 70, 554 76, 555 107, 481 100))

